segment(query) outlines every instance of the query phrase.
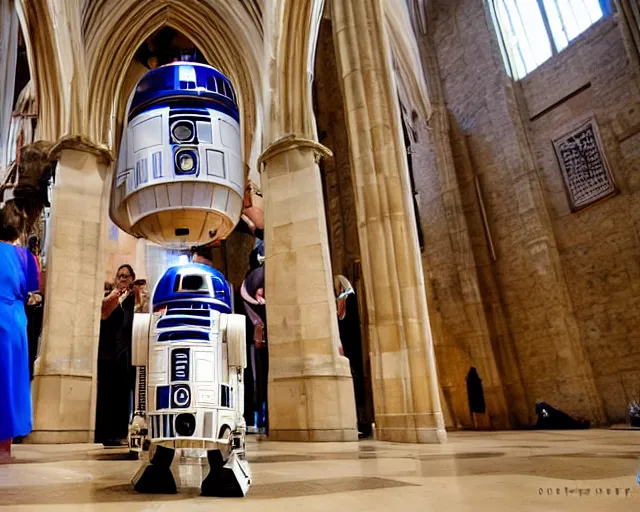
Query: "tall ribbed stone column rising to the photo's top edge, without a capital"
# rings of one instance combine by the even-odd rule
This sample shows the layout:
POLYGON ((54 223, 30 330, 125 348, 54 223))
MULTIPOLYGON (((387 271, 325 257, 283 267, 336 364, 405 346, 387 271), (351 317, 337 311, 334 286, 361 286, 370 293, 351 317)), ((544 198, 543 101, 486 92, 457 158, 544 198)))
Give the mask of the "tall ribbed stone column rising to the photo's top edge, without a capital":
POLYGON ((381 0, 334 0, 377 438, 444 442, 433 340, 381 0))

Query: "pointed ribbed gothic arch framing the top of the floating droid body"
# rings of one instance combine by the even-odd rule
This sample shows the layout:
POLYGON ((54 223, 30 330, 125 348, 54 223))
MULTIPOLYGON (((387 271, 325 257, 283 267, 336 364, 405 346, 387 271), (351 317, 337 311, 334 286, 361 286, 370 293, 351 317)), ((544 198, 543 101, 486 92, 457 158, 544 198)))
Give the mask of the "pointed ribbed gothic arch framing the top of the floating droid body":
MULTIPOLYGON (((245 20, 247 23, 252 22, 245 20)), ((127 98, 123 83, 133 55, 156 30, 169 26, 189 37, 205 58, 227 74, 238 92, 243 115, 245 158, 255 161, 260 143, 261 93, 258 28, 242 25, 240 14, 222 16, 210 5, 186 1, 104 0, 85 11, 90 113, 89 134, 96 142, 117 146, 117 112, 127 98), (105 13, 109 13, 105 19, 105 13), (211 27, 215 27, 212 30, 211 27)))

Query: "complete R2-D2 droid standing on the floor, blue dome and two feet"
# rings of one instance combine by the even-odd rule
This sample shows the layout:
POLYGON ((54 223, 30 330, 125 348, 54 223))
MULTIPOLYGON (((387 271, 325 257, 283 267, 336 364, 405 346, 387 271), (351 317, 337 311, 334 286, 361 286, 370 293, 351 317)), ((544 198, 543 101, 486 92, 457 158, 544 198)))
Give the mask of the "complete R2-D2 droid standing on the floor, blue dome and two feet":
POLYGON ((134 478, 144 493, 175 493, 176 449, 206 450, 205 496, 244 496, 245 318, 231 314, 229 285, 206 265, 170 268, 158 282, 151 314, 136 315, 132 362, 136 411, 130 446, 149 449, 134 478))

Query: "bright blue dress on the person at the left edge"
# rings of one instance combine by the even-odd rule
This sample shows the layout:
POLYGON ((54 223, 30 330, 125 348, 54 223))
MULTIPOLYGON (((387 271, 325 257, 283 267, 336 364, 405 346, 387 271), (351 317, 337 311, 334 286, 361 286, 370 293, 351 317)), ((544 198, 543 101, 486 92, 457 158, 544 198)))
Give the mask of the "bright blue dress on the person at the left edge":
POLYGON ((0 242, 0 441, 32 428, 25 303, 38 288, 33 255, 0 242))

